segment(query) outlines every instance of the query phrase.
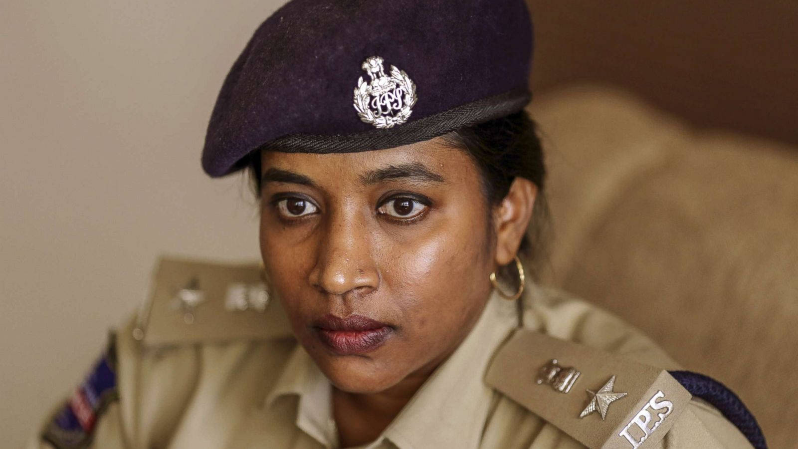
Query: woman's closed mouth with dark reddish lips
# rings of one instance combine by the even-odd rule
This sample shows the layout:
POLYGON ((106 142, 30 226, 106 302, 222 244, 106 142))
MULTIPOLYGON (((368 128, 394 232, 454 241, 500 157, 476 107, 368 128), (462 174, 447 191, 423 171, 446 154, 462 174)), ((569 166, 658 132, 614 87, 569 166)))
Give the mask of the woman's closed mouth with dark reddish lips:
POLYGON ((318 340, 339 356, 372 352, 385 344, 394 332, 389 324, 360 315, 322 316, 314 322, 313 330, 318 340))

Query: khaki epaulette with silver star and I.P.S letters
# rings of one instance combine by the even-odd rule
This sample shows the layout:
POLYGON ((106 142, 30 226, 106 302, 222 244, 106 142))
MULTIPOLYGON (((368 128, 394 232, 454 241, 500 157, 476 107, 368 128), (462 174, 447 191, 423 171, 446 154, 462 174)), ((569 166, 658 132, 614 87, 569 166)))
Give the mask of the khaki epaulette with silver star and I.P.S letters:
POLYGON ((527 329, 485 381, 587 447, 655 447, 692 398, 662 368, 527 329))

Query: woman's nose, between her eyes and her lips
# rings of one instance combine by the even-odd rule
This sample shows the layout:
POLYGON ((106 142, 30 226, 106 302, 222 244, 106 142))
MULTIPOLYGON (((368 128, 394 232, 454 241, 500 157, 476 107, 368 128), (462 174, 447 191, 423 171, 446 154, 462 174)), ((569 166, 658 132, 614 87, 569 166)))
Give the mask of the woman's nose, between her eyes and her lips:
POLYGON ((365 218, 335 214, 326 224, 310 284, 334 296, 367 294, 377 289, 380 274, 371 256, 365 218))

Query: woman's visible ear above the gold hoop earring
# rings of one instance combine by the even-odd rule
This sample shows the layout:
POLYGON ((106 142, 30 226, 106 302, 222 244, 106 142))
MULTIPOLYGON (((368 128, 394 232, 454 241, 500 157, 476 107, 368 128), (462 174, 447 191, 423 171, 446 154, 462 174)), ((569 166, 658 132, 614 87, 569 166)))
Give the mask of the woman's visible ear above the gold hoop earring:
POLYGON ((510 191, 494 213, 496 229, 496 264, 509 264, 518 253, 521 240, 532 217, 538 188, 532 181, 516 177, 510 191))

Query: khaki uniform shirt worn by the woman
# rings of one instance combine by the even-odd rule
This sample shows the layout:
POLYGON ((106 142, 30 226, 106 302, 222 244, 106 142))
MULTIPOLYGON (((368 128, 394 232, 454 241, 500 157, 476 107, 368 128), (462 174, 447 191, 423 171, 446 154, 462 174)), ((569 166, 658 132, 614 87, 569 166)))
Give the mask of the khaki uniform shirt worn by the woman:
MULTIPOLYGON (((156 287, 156 296, 157 291, 156 287)), ((156 304, 152 310, 158 310, 156 304)), ((218 329, 213 332, 223 336, 218 329)), ((118 399, 97 411, 92 435, 81 446, 89 442, 88 447, 104 449, 338 447, 330 382, 290 334, 281 331, 268 338, 217 340, 172 338, 148 343, 142 339, 140 320, 121 328, 114 344, 118 399)), ((547 341, 522 348, 544 351, 547 341)), ((637 364, 657 367, 651 368, 652 372, 678 368, 651 340, 618 318, 563 292, 530 283, 523 296, 523 312, 519 313, 515 302, 492 296, 460 347, 433 372, 382 435, 363 447, 584 447, 579 438, 599 441, 591 446, 601 447, 606 436, 591 440, 591 434, 602 425, 616 428, 617 433, 618 425, 622 427, 628 419, 626 409, 638 399, 645 404, 648 397, 625 397, 610 403, 606 420, 598 411, 579 419, 590 398, 584 391, 595 391, 605 381, 603 377, 599 383, 589 381, 589 375, 605 370, 605 377, 607 373, 616 376, 614 391, 626 391, 633 387, 638 375, 635 370, 643 369, 637 364), (523 323, 520 329, 519 323, 523 323), (504 356, 501 363, 516 363, 516 368, 492 368, 502 359, 497 356, 500 348, 521 331, 529 338, 564 340, 569 346, 559 349, 563 363, 571 348, 574 354, 581 348, 589 356, 599 355, 595 359, 599 361, 581 359, 590 364, 580 366, 579 357, 571 357, 568 364, 584 373, 584 382, 577 379, 567 393, 536 383, 535 375, 518 374, 527 365, 534 373, 541 366, 540 360, 527 362, 526 349, 504 356), (607 360, 603 354, 632 360, 631 368, 625 361, 602 361, 607 360), (610 366, 599 369, 598 365, 606 364, 610 366), (515 390, 519 395, 543 396, 526 400, 529 398, 514 395, 512 386, 504 391, 504 383, 520 385, 515 390), (559 427, 549 420, 558 422, 559 427)), ((640 447, 750 447, 716 409, 700 399, 687 398, 674 407, 680 409, 679 415, 674 413, 663 422, 670 419, 670 428, 654 430, 650 444, 640 447)), ((45 423, 43 431, 47 429, 45 423)), ((614 443, 606 447, 634 447, 614 436, 614 443)), ((29 447, 56 447, 50 440, 36 435, 29 447)))

